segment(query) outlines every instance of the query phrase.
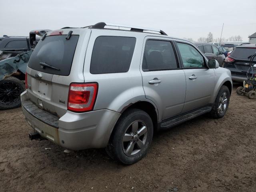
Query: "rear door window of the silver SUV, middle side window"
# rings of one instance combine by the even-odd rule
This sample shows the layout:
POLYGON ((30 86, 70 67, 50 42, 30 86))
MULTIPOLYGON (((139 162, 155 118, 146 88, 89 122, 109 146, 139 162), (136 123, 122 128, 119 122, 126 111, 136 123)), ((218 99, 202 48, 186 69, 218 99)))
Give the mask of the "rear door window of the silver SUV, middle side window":
POLYGON ((177 68, 177 61, 171 42, 148 40, 145 45, 142 70, 170 70, 177 68))

